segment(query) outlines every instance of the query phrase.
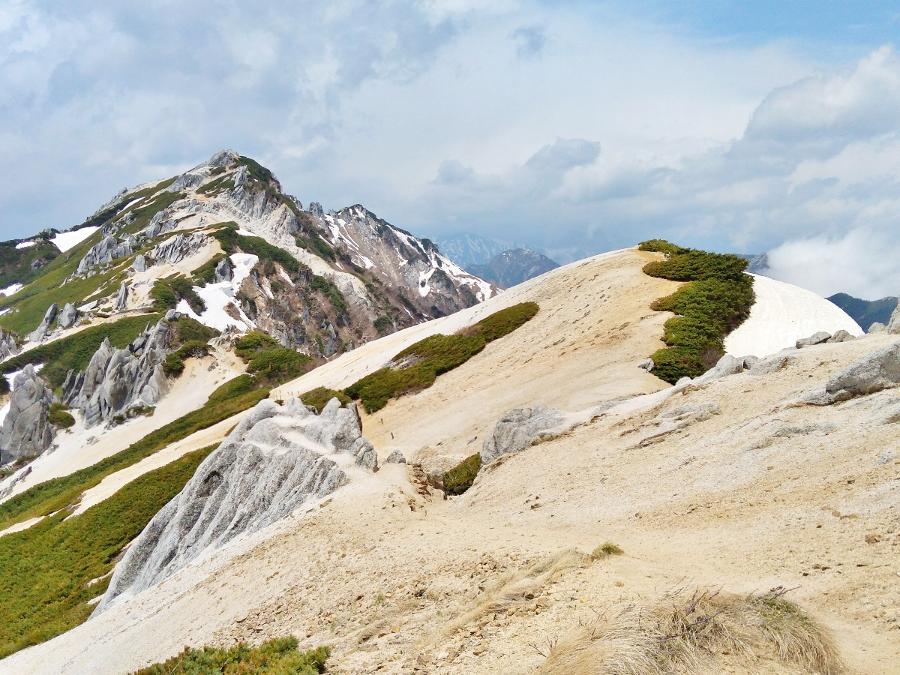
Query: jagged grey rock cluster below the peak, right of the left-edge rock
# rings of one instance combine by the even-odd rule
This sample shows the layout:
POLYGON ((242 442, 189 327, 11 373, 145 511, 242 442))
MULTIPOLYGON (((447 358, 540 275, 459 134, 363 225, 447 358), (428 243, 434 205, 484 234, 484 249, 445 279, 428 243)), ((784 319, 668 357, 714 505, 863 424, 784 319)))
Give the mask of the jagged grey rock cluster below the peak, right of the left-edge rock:
POLYGON ((84 412, 85 426, 93 426, 129 409, 153 406, 168 390, 162 369, 169 345, 169 323, 161 320, 125 349, 101 343, 82 373, 69 371, 63 400, 84 412))

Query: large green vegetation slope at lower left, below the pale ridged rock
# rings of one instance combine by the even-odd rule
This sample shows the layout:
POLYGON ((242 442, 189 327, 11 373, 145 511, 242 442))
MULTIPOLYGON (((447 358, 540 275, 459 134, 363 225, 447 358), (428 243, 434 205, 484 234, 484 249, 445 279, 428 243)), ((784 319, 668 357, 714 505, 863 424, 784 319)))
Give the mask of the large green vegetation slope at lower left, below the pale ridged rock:
POLYGON ((136 478, 83 514, 60 511, 0 537, 0 658, 85 621, 116 557, 194 475, 215 446, 136 478), (91 583, 93 580, 93 583, 91 583))

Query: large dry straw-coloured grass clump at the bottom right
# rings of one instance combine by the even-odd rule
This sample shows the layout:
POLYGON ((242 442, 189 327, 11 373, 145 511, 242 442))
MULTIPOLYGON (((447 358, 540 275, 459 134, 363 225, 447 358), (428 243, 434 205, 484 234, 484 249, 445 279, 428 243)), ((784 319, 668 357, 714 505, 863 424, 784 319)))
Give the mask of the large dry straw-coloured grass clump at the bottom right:
POLYGON ((753 671, 774 659, 802 672, 842 670, 828 633, 783 588, 763 595, 683 591, 653 608, 630 607, 611 621, 585 627, 550 652, 547 675, 705 673, 735 659, 753 671))

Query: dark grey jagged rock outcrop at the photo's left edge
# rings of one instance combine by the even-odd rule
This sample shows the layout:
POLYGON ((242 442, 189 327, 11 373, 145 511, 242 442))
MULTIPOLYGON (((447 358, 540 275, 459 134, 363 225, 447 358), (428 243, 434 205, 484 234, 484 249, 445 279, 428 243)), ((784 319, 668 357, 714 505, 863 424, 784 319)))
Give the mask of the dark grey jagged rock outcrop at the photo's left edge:
POLYGON ((9 412, 0 428, 0 464, 22 457, 36 457, 53 442, 47 419, 53 393, 31 364, 13 380, 9 412))

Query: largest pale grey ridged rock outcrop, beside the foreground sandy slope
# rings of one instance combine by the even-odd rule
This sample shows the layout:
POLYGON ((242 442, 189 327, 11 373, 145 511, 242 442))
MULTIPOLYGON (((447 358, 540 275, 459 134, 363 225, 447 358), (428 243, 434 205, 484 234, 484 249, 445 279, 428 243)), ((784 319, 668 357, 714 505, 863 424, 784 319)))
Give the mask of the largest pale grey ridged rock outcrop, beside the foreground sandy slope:
POLYGON ((371 445, 356 412, 336 399, 320 415, 297 399, 261 401, 134 540, 95 613, 334 492, 350 480, 352 456, 363 447, 371 445))

